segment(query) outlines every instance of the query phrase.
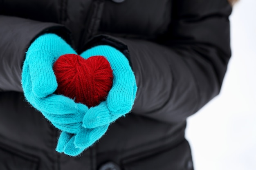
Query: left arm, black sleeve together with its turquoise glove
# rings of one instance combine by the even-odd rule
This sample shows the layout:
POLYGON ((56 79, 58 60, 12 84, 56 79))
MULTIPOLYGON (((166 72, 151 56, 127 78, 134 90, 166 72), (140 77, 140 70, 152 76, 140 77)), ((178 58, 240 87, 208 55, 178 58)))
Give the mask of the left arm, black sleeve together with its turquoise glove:
POLYGON ((69 31, 55 23, 4 15, 0 25, 0 91, 23 91, 56 128, 70 133, 80 130, 87 106, 52 94, 57 88, 52 63, 63 54, 76 53, 67 44, 69 31))

